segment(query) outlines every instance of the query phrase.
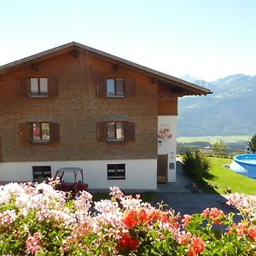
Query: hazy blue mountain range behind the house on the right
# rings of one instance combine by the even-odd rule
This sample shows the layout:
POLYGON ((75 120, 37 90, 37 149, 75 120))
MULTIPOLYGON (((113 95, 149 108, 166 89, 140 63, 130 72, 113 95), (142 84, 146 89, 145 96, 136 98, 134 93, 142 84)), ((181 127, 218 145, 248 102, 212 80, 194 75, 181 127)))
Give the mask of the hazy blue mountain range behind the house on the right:
POLYGON ((181 79, 212 91, 178 100, 177 136, 229 136, 256 133, 256 76, 235 74, 212 82, 181 79))

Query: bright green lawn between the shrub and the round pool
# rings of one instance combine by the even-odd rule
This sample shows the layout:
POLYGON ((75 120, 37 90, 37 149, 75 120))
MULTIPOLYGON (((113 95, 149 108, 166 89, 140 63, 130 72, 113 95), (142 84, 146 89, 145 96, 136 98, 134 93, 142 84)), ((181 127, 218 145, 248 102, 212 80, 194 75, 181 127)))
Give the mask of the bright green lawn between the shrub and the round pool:
POLYGON ((211 169, 209 177, 203 178, 203 190, 206 192, 215 191, 218 194, 226 194, 226 189, 230 188, 232 193, 238 192, 246 195, 256 195, 256 180, 237 174, 223 166, 230 164, 232 160, 218 157, 209 157, 207 159, 210 161, 211 169), (210 188, 207 185, 208 183, 216 185, 217 188, 210 188))

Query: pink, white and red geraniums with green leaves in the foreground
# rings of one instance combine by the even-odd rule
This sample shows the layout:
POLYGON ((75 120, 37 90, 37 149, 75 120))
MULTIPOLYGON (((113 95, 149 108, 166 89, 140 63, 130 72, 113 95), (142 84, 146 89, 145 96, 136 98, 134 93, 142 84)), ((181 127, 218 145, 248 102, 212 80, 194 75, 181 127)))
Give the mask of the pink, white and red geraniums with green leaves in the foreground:
POLYGON ((1 255, 255 255, 256 204, 230 195, 235 213, 217 208, 180 216, 140 196, 110 188, 111 200, 94 202, 83 191, 74 201, 55 183, 0 187, 1 255), (225 231, 213 230, 224 225, 225 231))

